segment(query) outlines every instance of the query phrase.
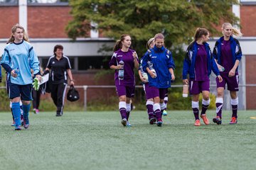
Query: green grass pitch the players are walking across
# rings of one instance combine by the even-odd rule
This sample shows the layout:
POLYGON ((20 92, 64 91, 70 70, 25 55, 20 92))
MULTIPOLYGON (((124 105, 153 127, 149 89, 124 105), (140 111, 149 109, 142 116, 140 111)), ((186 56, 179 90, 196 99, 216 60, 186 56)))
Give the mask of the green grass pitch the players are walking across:
MULTIPOLYGON (((0 113, 0 169, 256 169, 255 111, 239 111, 238 124, 193 125, 192 111, 169 111, 164 125, 149 125, 133 111, 124 128, 117 111, 30 114, 28 130, 0 113)), ((208 118, 215 116, 208 111, 208 118)))

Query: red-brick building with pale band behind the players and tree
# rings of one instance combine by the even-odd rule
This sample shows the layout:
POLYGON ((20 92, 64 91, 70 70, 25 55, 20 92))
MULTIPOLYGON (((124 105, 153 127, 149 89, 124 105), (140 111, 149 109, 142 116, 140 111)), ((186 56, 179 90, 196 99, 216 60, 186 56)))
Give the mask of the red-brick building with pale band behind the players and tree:
MULTIPOLYGON (((43 1, 43 0, 42 0, 43 1)), ((90 32, 90 38, 78 38, 71 41, 65 33, 65 26, 72 19, 68 2, 28 3, 26 0, 11 0, 4 3, 0 0, 0 51, 4 51, 6 40, 11 35, 11 27, 15 23, 28 30, 28 35, 43 67, 46 67, 48 57, 53 55, 53 47, 56 44, 64 46, 64 54, 70 57, 73 67, 73 75, 76 85, 113 85, 113 77, 105 77, 104 80, 95 81, 95 74, 108 67, 104 62, 105 55, 98 52, 103 44, 113 46, 113 40, 103 38, 95 31, 90 32)), ((256 109, 256 87, 245 86, 256 84, 256 0, 241 0, 240 6, 233 6, 233 12, 240 17, 241 31, 244 34, 240 38, 243 57, 240 63, 240 109, 256 109)), ((213 47, 214 38, 210 41, 213 47)), ((111 54, 107 54, 111 55, 111 54)), ((80 89, 82 94, 82 89, 80 89)), ((114 89, 105 91, 91 89, 88 96, 108 95, 114 93, 114 89)), ((228 95, 225 95, 228 96, 228 95)), ((81 98, 81 101, 83 98, 81 98)), ((226 98, 227 101, 228 98, 226 98)), ((226 106, 228 108, 228 105, 226 106)))

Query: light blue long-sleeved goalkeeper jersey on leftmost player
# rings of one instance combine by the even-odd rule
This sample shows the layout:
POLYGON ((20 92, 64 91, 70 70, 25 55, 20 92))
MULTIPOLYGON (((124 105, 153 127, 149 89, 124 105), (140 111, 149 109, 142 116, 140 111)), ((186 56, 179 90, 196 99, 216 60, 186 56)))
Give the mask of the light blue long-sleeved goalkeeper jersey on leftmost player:
POLYGON ((20 43, 13 42, 6 45, 0 64, 8 64, 11 69, 19 69, 18 77, 10 76, 12 84, 32 84, 31 69, 33 69, 33 74, 39 72, 36 52, 32 45, 24 40, 20 43))

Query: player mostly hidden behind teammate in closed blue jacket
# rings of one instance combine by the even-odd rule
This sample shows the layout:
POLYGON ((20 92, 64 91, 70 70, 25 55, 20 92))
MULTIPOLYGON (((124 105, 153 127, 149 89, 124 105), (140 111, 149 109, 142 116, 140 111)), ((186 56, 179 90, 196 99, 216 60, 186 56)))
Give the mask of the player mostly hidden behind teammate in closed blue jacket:
MULTIPOLYGON (((154 47, 154 45, 155 45, 154 38, 150 38, 146 43, 147 50, 154 47)), ((143 60, 143 57, 140 60, 139 79, 141 79, 143 82, 143 89, 146 94, 146 111, 149 115, 149 124, 153 125, 154 123, 156 123, 156 118, 153 111, 154 98, 151 95, 151 90, 150 90, 151 87, 149 86, 148 75, 146 74, 146 72, 143 72, 143 69, 142 69, 142 60, 143 60)))

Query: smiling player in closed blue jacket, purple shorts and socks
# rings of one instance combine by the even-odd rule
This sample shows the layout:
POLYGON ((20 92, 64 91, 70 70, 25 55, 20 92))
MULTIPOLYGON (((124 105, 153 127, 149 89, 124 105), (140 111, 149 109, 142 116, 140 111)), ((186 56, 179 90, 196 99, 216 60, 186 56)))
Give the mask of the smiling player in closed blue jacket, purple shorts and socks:
POLYGON ((147 50, 143 56, 142 68, 148 74, 150 92, 154 98, 156 124, 161 127, 163 124, 161 115, 166 106, 164 96, 171 87, 171 80, 175 79, 175 64, 171 52, 164 47, 164 35, 156 34, 154 42, 154 47, 147 50))

